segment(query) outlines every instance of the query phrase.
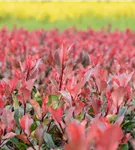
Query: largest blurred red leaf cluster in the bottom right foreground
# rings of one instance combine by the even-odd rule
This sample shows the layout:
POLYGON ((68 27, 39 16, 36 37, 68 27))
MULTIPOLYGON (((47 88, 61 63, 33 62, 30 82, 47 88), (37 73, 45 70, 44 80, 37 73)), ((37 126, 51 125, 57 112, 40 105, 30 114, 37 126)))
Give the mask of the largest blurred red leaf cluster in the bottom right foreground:
POLYGON ((87 144, 99 150, 116 150, 123 137, 118 124, 110 124, 106 118, 95 119, 91 123, 87 134, 87 144))

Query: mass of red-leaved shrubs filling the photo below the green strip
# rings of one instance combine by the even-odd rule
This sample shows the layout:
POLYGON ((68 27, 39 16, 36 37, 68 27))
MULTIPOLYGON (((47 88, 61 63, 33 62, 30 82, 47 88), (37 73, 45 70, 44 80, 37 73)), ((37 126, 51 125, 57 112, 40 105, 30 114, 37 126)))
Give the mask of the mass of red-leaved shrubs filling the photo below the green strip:
POLYGON ((0 149, 135 149, 134 69, 130 29, 1 29, 0 149))

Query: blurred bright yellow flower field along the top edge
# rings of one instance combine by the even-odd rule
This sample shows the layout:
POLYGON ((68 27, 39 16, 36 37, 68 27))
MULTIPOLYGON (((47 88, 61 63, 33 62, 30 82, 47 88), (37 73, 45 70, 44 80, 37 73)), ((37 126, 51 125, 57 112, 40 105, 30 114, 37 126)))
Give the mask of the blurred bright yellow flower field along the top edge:
POLYGON ((0 1, 0 18, 49 21, 80 16, 135 17, 134 1, 0 1))

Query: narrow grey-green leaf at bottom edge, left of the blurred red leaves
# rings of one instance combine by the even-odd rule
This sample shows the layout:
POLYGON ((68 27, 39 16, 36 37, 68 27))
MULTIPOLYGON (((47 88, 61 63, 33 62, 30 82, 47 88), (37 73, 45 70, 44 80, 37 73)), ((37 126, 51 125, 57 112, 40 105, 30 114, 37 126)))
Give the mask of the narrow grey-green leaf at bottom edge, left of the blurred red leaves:
POLYGON ((44 133, 44 141, 46 142, 46 144, 49 148, 56 148, 56 146, 53 142, 52 136, 46 132, 44 133))

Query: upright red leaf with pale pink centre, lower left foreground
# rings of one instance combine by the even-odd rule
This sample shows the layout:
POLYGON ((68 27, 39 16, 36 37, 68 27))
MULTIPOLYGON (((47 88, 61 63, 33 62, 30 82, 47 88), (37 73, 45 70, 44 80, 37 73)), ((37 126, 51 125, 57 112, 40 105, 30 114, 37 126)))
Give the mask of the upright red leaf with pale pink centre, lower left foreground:
POLYGON ((28 114, 19 119, 20 126, 24 130, 24 132, 29 136, 30 135, 30 127, 33 123, 33 120, 30 118, 28 114))

